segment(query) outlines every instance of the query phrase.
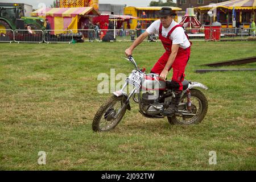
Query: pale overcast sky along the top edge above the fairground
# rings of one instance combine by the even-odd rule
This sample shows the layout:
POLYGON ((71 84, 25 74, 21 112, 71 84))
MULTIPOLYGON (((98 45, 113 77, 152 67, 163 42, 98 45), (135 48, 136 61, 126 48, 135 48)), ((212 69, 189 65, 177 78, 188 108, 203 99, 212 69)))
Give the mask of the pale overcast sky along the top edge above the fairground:
MULTIPOLYGON (((101 4, 104 4, 104 3, 120 4, 120 5, 127 5, 127 6, 149 6, 151 1, 152 0, 100 0, 100 3, 101 4)), ((0 0, 0 2, 25 3, 27 5, 32 5, 33 9, 38 9, 39 7, 42 7, 42 3, 44 3, 47 7, 49 7, 49 5, 52 4, 53 0, 0 0)))

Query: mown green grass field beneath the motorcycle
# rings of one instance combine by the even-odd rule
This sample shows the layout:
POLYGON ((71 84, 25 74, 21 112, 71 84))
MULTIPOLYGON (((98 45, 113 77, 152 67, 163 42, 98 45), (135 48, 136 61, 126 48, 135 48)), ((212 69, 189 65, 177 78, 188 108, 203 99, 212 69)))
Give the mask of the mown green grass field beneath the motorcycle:
MULTIPOLYGON (((119 125, 94 133, 100 73, 128 75, 120 57, 130 43, 0 44, 0 169, 2 170, 255 170, 255 72, 197 74, 201 64, 256 56, 256 42, 194 42, 186 78, 209 87, 199 125, 148 119, 131 103, 119 125), (38 152, 47 154, 38 164, 38 152), (209 165, 216 151, 217 164, 209 165)), ((150 71, 160 43, 134 51, 150 71)), ((222 67, 223 68, 223 67, 222 67)), ((256 68, 256 63, 230 68, 256 68)))

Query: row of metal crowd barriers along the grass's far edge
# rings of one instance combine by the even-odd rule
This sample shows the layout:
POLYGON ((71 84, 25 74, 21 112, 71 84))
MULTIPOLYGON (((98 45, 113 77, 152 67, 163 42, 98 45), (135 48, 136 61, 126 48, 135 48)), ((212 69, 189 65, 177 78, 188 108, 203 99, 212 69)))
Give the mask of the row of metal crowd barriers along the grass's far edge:
MULTIPOLYGON (((134 41, 145 30, 5 30, 0 29, 0 42, 16 43, 72 43, 102 41, 104 36, 119 42, 134 41), (75 33, 76 32, 76 33, 75 33), (114 33, 115 32, 115 33, 114 33)), ((192 28, 185 29, 190 40, 247 40, 255 37, 254 28, 192 28)), ((114 41, 114 40, 113 40, 114 41)), ((144 41, 159 42, 158 35, 150 35, 144 41)))

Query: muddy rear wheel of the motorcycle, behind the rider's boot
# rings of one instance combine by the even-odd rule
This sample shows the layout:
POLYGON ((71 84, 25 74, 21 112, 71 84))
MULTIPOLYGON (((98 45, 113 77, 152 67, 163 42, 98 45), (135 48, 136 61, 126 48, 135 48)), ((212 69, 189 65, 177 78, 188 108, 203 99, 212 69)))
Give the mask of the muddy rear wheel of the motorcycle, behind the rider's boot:
POLYGON ((184 94, 179 104, 179 110, 183 110, 188 115, 177 113, 172 117, 167 117, 171 125, 191 125, 200 123, 204 119, 208 110, 207 98, 200 90, 191 89, 190 92, 192 102, 191 111, 188 111, 187 94, 184 94))

